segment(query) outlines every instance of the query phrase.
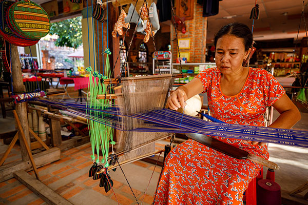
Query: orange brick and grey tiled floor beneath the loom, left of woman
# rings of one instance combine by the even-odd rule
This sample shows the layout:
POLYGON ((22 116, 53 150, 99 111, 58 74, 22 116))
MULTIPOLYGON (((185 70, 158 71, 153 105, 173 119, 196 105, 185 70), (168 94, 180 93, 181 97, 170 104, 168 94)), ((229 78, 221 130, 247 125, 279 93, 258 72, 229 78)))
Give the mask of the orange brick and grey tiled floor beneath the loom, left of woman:
MULTIPOLYGON (((13 152, 17 152, 16 148, 18 146, 14 147, 13 152)), ((125 205, 137 204, 119 168, 115 172, 110 172, 114 186, 113 191, 109 191, 108 193, 105 193, 104 188, 99 187, 99 180, 93 180, 88 177, 88 171, 92 165, 90 155, 91 148, 89 143, 62 152, 61 160, 38 168, 41 181, 76 205, 118 204, 118 202, 125 205)), ((12 157, 10 156, 8 160, 12 157)), ((151 204, 153 200, 153 194, 161 169, 157 167, 153 172, 154 168, 155 166, 143 161, 136 161, 122 166, 124 173, 127 174, 126 176, 134 195, 136 195, 140 204, 142 200, 145 205, 151 204), (134 175, 131 173, 134 173, 134 175), (152 173, 153 176, 147 189, 152 173), (146 189, 147 194, 145 194, 146 189)), ((29 173, 33 175, 33 171, 29 173)), ((13 178, 0 183, 0 204, 46 203, 13 178)))

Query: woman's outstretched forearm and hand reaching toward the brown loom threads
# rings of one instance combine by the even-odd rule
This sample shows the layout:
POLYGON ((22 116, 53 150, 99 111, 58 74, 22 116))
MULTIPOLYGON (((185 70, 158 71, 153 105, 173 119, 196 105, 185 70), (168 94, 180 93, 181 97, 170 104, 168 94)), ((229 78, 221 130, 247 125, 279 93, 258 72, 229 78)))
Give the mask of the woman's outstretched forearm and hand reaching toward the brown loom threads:
POLYGON ((185 101, 192 96, 195 96, 203 92, 203 86, 199 79, 194 78, 188 84, 180 86, 171 95, 167 100, 167 108, 171 110, 178 110, 179 108, 185 107, 185 101))

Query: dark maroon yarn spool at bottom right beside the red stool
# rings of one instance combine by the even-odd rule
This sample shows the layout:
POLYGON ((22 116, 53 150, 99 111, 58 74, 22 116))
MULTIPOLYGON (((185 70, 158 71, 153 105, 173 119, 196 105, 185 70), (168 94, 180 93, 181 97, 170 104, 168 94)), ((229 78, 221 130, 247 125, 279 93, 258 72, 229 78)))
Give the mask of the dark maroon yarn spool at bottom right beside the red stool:
POLYGON ((257 183, 257 204, 281 205, 281 190, 278 183, 261 179, 257 183))

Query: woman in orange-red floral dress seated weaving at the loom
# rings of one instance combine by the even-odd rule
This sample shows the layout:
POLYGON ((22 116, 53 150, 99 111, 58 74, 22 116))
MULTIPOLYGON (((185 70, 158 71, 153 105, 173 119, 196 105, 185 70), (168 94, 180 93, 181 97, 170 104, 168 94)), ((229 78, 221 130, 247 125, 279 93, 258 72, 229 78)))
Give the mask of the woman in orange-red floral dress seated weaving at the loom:
MULTIPOLYGON (((269 127, 290 129, 300 119, 297 107, 277 80, 263 69, 243 67, 253 45, 244 24, 228 24, 215 36, 216 68, 201 72, 168 98, 172 110, 185 100, 207 92, 211 115, 228 124, 264 126, 263 114, 273 106, 280 116, 269 127)), ((234 147, 268 159, 264 142, 215 137, 234 147)), ((248 183, 261 166, 236 159, 187 140, 165 160, 155 204, 243 204, 248 183)))

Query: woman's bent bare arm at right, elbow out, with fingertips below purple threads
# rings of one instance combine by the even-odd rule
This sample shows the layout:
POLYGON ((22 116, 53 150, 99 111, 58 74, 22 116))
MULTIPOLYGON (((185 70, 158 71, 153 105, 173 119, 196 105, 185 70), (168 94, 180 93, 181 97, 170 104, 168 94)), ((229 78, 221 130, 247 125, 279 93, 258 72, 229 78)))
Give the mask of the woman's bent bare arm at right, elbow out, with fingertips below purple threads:
MULTIPOLYGON (((280 113, 279 117, 268 127, 290 129, 301 118, 300 112, 291 99, 286 95, 282 95, 274 104, 273 107, 280 113)), ((264 146, 265 142, 253 141, 252 144, 264 146)))

